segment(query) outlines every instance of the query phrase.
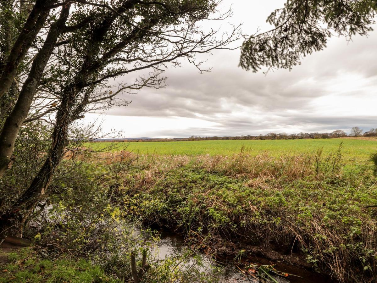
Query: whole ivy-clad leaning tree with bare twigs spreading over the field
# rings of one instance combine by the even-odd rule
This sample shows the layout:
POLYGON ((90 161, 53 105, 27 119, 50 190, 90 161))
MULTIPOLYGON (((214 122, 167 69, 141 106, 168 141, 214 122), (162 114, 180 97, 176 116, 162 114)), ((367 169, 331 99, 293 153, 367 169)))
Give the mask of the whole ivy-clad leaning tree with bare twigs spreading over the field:
MULTIPOLYGON (((44 65, 47 68, 42 66, 44 72, 38 93, 34 91, 34 94, 29 92, 28 95, 40 106, 38 112, 29 113, 26 122, 53 114, 51 149, 29 188, 3 216, 8 222, 12 219, 15 223, 22 223, 48 189, 70 142, 69 132, 74 121, 92 110, 113 105, 126 106, 127 101, 116 98, 121 92, 163 87, 166 79, 162 76, 164 69, 168 63, 179 66, 179 58, 187 58, 200 72, 207 71, 202 67, 203 61, 195 60, 195 55, 213 49, 232 48, 227 45, 238 38, 238 27, 218 38, 217 31, 204 32, 196 25, 198 21, 210 18, 216 11, 217 1, 119 0, 110 5, 80 0, 75 1, 75 9, 69 9, 69 3, 63 5, 60 18, 50 27, 51 31, 63 18, 66 22, 62 31, 58 32, 59 37, 51 40, 54 48, 52 53, 48 53, 51 59, 44 65), (93 6, 95 9, 92 9, 93 6), (70 11, 75 12, 67 15, 70 11), (114 90, 116 85, 109 81, 116 84, 115 78, 122 75, 132 75, 134 79, 118 83, 114 90)), ((227 16, 224 14, 217 19, 227 16)), ((47 36, 44 44, 48 42, 47 36)), ((25 104, 30 108, 32 103, 27 101, 25 104)), ((20 115, 17 117, 18 121, 23 120, 20 115)), ((14 135, 17 131, 9 132, 14 135)), ((0 148, 1 145, 2 139, 0 148)))

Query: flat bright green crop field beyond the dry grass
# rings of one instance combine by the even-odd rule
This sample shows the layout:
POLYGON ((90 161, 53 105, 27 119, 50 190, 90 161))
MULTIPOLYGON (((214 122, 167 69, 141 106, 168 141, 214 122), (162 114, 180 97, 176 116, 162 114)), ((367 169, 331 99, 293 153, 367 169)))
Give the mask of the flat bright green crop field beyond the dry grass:
POLYGON ((231 141, 179 141, 179 142, 95 142, 87 144, 95 149, 111 147, 140 154, 157 155, 232 155, 244 150, 251 155, 268 153, 272 156, 314 153, 319 148, 328 154, 343 142, 342 155, 348 161, 366 161, 377 151, 377 140, 365 139, 296 139, 296 140, 231 140, 231 141))

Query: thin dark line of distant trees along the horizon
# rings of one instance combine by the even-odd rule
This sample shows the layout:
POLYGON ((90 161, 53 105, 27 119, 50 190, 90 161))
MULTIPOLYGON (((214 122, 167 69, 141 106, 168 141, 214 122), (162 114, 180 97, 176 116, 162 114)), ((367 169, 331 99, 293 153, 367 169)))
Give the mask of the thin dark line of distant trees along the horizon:
POLYGON ((268 133, 267 135, 259 136, 190 136, 190 138, 173 138, 173 139, 103 139, 97 142, 141 142, 141 141, 222 141, 222 140, 266 140, 266 139, 332 139, 344 137, 377 137, 377 128, 362 133, 359 127, 353 127, 351 134, 347 134, 343 130, 336 130, 331 133, 298 133, 288 135, 287 133, 268 133))

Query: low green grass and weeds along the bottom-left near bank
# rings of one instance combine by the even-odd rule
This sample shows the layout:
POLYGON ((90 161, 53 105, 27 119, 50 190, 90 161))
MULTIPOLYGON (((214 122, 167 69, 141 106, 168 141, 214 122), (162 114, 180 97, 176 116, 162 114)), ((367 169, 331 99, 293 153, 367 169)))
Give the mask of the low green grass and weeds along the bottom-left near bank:
MULTIPOLYGON (((1 252, 0 263, 1 283, 91 283, 132 282, 130 263, 121 263, 118 257, 113 260, 93 261, 84 258, 71 257, 69 254, 48 252, 40 247, 28 247, 1 252), (112 266, 116 265, 116 266, 112 266)), ((161 261, 152 261, 148 256, 148 272, 140 282, 218 282, 219 271, 211 269, 211 274, 206 272, 202 265, 202 257, 195 256, 191 251, 181 252, 180 255, 171 255, 161 261), (189 261, 189 262, 188 262, 189 261), (182 268, 185 266, 185 268, 182 268), (198 267, 201 266, 201 271, 198 267)), ((140 269, 141 263, 136 265, 140 269)))

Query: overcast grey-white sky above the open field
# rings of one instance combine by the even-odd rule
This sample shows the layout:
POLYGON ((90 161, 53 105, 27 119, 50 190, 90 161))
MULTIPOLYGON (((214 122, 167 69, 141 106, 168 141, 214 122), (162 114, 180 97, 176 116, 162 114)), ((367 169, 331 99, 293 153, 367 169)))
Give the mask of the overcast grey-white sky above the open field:
MULTIPOLYGON (((244 34, 271 28, 268 15, 283 0, 224 0, 242 22, 244 34)), ((204 23, 206 28, 211 23, 204 23)), ((333 37, 328 47, 302 60, 293 70, 265 75, 238 67, 240 50, 206 54, 209 73, 182 61, 164 75, 164 89, 143 89, 124 96, 132 101, 106 113, 89 113, 85 123, 102 121, 102 131, 119 137, 184 138, 275 133, 350 132, 377 127, 377 26, 352 41, 333 37)), ((241 44, 241 41, 239 42, 241 44)), ((122 78, 124 79, 124 78, 122 78)))

